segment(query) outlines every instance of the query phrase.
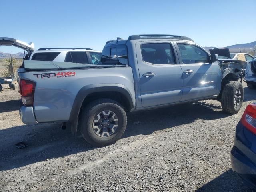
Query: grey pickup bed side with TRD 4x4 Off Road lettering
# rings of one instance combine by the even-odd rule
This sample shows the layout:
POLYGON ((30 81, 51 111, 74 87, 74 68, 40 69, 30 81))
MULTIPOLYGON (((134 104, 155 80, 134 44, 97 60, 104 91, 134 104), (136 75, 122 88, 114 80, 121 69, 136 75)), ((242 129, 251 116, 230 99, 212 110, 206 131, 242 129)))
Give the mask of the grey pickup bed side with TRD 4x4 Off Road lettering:
POLYGON ((36 82, 34 105, 27 110, 31 108, 37 122, 68 121, 78 92, 92 86, 126 87, 135 104, 132 69, 127 65, 24 61, 18 74, 36 82))

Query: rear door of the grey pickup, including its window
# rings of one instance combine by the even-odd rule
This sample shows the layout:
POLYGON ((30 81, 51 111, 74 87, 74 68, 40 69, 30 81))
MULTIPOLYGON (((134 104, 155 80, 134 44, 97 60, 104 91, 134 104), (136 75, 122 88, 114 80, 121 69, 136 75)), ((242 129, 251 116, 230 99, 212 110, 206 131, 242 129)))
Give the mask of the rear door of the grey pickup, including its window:
POLYGON ((143 107, 179 102, 182 70, 171 42, 136 42, 143 107))

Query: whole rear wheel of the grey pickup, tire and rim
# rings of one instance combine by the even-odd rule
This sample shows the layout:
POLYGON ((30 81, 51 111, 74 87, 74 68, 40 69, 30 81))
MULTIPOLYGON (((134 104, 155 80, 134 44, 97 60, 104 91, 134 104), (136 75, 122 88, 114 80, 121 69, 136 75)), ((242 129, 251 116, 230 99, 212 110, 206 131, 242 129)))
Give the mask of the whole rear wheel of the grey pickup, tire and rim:
POLYGON ((88 143, 106 146, 113 144, 124 134, 126 124, 126 112, 118 102, 99 99, 82 110, 78 127, 88 143))

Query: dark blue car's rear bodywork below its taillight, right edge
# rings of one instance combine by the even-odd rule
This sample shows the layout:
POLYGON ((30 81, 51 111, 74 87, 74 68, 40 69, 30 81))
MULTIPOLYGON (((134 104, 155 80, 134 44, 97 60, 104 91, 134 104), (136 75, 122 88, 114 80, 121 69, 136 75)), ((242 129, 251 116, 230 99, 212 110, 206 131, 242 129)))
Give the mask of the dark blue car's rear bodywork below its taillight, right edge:
POLYGON ((241 122, 236 127, 234 146, 231 150, 232 169, 256 189, 256 135, 241 122))

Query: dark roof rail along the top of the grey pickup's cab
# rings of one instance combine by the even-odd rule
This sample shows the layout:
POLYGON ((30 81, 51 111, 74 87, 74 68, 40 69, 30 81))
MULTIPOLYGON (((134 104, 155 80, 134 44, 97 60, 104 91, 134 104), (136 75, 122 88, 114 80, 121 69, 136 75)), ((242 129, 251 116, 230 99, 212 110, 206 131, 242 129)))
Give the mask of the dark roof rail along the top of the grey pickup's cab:
POLYGON ((152 39, 152 38, 159 38, 159 39, 181 39, 181 40, 193 41, 191 38, 185 37, 185 36, 164 35, 164 34, 131 35, 131 36, 129 36, 128 41, 134 40, 134 39, 152 39))

